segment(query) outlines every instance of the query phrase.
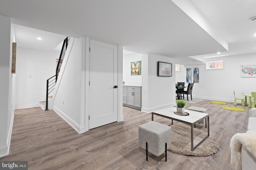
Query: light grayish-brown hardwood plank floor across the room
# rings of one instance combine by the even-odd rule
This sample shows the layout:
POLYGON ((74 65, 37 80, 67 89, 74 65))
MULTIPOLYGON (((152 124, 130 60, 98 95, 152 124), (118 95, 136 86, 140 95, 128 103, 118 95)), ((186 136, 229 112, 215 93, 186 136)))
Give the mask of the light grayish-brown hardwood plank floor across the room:
MULTIPOLYGON (((0 160, 27 160, 29 170, 232 170, 230 139, 235 133, 246 132, 249 108, 238 105, 246 111, 228 111, 209 100, 186 104, 185 108, 190 106, 207 108, 210 113, 210 136, 220 144, 212 156, 168 151, 167 162, 165 154, 157 157, 151 153, 146 161, 146 151, 138 146, 138 126, 151 121, 150 113, 123 107, 124 121, 79 135, 54 111, 35 107, 15 110, 10 154, 0 160)), ((171 123, 156 115, 154 121, 171 123)), ((196 127, 207 131, 202 124, 196 127)))

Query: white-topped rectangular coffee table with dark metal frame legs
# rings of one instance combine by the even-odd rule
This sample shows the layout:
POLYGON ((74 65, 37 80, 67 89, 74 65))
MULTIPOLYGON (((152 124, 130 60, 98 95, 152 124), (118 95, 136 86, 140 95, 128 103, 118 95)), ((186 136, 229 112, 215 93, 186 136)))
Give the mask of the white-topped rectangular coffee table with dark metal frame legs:
POLYGON ((172 124, 173 124, 173 120, 175 120, 175 121, 179 121, 179 122, 186 123, 186 124, 190 125, 191 126, 191 150, 194 151, 199 145, 201 145, 210 136, 209 114, 185 109, 185 112, 189 113, 189 115, 183 116, 183 115, 176 115, 174 113, 175 111, 176 111, 176 107, 168 107, 166 109, 153 111, 152 112, 152 121, 154 121, 154 115, 158 115, 161 117, 172 119, 172 124), (207 124, 208 124, 208 135, 194 147, 193 127, 196 123, 205 119, 206 117, 207 117, 207 124))

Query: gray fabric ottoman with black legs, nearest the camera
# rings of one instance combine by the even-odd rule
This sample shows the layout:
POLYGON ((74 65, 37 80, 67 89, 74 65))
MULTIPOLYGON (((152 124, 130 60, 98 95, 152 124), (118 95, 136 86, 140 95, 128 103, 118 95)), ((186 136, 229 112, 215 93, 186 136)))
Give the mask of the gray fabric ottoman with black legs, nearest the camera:
POLYGON ((146 160, 148 160, 148 152, 156 156, 165 153, 165 161, 167 160, 167 148, 170 148, 172 143, 172 130, 170 126, 150 121, 139 126, 139 145, 146 149, 146 160))

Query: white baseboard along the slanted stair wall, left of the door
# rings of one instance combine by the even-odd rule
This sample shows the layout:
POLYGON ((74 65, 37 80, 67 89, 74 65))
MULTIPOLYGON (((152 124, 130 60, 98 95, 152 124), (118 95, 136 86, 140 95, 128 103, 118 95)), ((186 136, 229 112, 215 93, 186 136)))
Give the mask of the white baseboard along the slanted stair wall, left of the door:
POLYGON ((79 126, 75 121, 73 121, 70 117, 68 117, 65 113, 60 111, 56 106, 53 106, 53 110, 60 116, 64 121, 66 121, 78 134, 85 132, 84 126, 79 126))

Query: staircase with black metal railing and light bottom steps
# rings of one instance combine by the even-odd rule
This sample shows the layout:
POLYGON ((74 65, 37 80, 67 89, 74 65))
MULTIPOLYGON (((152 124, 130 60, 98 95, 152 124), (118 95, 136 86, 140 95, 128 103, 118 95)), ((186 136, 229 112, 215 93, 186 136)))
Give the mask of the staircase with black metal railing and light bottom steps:
POLYGON ((63 41, 62 49, 60 52, 60 57, 58 60, 58 65, 56 68, 56 74, 54 76, 52 76, 51 78, 49 78, 48 80, 46 80, 46 99, 47 100, 40 102, 40 107, 45 111, 47 111, 49 109, 53 109, 54 98, 53 98, 53 96, 50 96, 50 95, 52 95, 54 93, 53 90, 55 88, 55 84, 58 79, 62 61, 65 57, 66 49, 68 48, 69 39, 70 39, 70 37, 66 37, 66 39, 64 39, 64 41, 63 41))

